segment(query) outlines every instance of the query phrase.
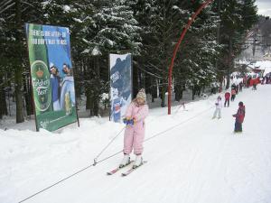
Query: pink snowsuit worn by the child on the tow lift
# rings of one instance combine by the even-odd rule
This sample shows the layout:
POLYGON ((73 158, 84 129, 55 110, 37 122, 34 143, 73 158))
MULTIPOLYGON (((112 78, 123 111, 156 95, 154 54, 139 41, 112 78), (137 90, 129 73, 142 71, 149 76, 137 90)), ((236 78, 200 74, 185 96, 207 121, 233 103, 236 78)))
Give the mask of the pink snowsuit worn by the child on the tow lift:
POLYGON ((135 106, 132 103, 126 110, 126 117, 135 117, 135 125, 127 125, 124 135, 125 154, 130 154, 133 149, 136 155, 142 154, 145 138, 145 117, 148 115, 148 106, 135 106))

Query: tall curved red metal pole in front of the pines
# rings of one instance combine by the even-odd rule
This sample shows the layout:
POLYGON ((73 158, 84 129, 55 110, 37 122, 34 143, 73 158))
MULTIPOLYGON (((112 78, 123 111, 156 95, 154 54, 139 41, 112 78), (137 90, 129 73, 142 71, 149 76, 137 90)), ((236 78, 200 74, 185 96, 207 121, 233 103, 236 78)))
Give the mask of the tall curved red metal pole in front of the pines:
POLYGON ((173 65, 174 65, 174 60, 175 60, 175 57, 176 57, 176 53, 179 50, 179 46, 180 46, 180 44, 181 44, 181 42, 182 42, 182 40, 184 38, 185 33, 187 32, 187 30, 191 26, 191 24, 194 21, 194 19, 197 17, 198 14, 201 13, 201 10, 203 8, 205 8, 207 5, 209 5, 213 1, 214 0, 208 0, 208 1, 204 2, 198 8, 198 10, 192 15, 192 18, 190 18, 190 20, 188 21, 188 23, 183 28, 181 36, 180 36, 180 39, 177 42, 177 44, 175 45, 175 47, 174 47, 173 58, 172 58, 171 65, 170 65, 169 71, 168 71, 168 115, 171 115, 171 109, 172 109, 172 75, 173 75, 173 65))

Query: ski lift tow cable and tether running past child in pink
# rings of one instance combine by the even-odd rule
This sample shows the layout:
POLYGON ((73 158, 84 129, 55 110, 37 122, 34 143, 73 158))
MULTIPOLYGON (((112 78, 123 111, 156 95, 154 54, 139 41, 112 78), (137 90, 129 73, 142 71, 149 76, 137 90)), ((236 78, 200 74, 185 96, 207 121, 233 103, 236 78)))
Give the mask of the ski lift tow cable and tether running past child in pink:
MULTIPOLYGON (((152 139, 154 139, 155 137, 157 137, 157 136, 159 136, 159 135, 161 135, 161 134, 165 134, 165 133, 167 133, 167 132, 173 130, 174 128, 176 128, 176 127, 178 127, 178 126, 180 126, 180 125, 183 125, 184 123, 186 123, 186 122, 188 122, 188 121, 191 121, 191 120, 194 119, 195 117, 197 117, 197 116, 199 116, 199 115, 202 115, 202 114, 204 114, 205 112, 209 111, 211 108, 213 108, 213 107, 210 107, 210 108, 208 108, 208 109, 206 109, 206 110, 204 110, 204 111, 201 111, 201 113, 199 113, 199 114, 197 114, 197 115, 194 115, 194 116, 192 116, 191 118, 188 118, 188 119, 182 121, 181 123, 179 123, 179 124, 177 124, 177 125, 173 125, 173 126, 167 128, 166 130, 164 130, 163 132, 160 132, 160 133, 158 133, 158 134, 154 134, 153 136, 151 136, 151 137, 145 139, 144 143, 145 143, 145 142, 148 142, 148 141, 150 141, 150 140, 152 140, 152 139)), ((122 130, 121 130, 121 131, 120 131, 120 132, 112 139, 112 141, 111 141, 110 143, 112 143, 112 142, 117 138, 117 136, 118 136, 119 134, 121 134, 121 132, 122 132, 124 129, 125 129, 125 127, 124 127, 124 128, 123 128, 123 129, 122 129, 122 130)), ((107 145, 108 145, 108 144, 107 144, 107 145)), ((105 150, 105 149, 104 149, 104 150, 105 150)), ((102 152, 104 152, 104 150, 103 150, 102 152)), ((102 152, 100 152, 98 155, 100 155, 102 152)), ((110 156, 107 156, 106 158, 104 158, 104 159, 102 159, 102 160, 100 160, 100 161, 95 161, 93 164, 90 164, 89 166, 87 166, 87 167, 85 167, 85 168, 83 168, 83 169, 81 169, 81 170, 79 170, 79 171, 76 171, 76 172, 72 173, 70 176, 68 176, 68 177, 66 177, 66 178, 64 178, 64 179, 62 179, 62 180, 59 180, 59 181, 57 181, 57 182, 51 184, 51 185, 48 186, 47 188, 42 189, 42 190, 40 190, 40 191, 34 193, 33 195, 29 196, 28 198, 24 198, 23 200, 20 200, 18 203, 22 203, 22 202, 24 202, 24 201, 26 201, 26 200, 28 200, 28 199, 30 199, 30 198, 33 198, 33 197, 37 196, 38 194, 41 194, 43 191, 48 190, 48 189, 51 189, 52 187, 54 187, 54 186, 60 184, 61 182, 65 181, 65 180, 68 180, 68 179, 70 179, 71 177, 73 177, 73 176, 75 176, 75 175, 78 175, 80 172, 86 171, 86 170, 89 169, 90 167, 95 166, 97 163, 100 163, 100 162, 102 162, 102 161, 106 161, 106 160, 108 160, 108 159, 110 159, 110 158, 116 156, 116 155, 117 155, 118 153, 120 153, 120 152, 123 152, 123 151, 116 152, 116 153, 114 153, 114 154, 112 154, 112 155, 110 155, 110 156)))

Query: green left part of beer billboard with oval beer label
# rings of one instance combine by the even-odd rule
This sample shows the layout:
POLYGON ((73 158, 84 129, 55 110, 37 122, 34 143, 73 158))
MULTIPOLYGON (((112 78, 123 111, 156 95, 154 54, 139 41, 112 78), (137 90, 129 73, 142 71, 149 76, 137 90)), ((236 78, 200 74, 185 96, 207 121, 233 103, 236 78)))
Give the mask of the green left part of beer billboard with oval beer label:
POLYGON ((27 23, 28 49, 36 115, 52 111, 51 78, 42 25, 27 23))

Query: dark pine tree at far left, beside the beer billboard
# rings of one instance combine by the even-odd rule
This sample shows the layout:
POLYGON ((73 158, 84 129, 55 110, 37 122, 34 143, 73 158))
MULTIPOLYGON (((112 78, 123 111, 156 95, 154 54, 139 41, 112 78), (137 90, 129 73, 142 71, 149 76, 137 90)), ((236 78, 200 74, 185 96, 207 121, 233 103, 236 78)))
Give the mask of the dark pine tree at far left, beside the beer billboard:
MULTIPOLYGON (((4 86, 14 83, 16 100, 16 123, 23 122, 23 97, 30 98, 23 89, 23 78, 29 78, 27 49, 23 23, 37 21, 41 13, 40 2, 27 3, 20 0, 4 0, 0 3, 0 48, 4 86), (34 8, 34 9, 33 9, 34 8), (14 77, 13 77, 14 76, 14 77)), ((31 105, 32 102, 27 102, 31 105)))

